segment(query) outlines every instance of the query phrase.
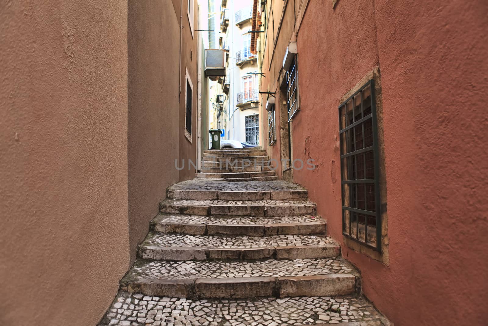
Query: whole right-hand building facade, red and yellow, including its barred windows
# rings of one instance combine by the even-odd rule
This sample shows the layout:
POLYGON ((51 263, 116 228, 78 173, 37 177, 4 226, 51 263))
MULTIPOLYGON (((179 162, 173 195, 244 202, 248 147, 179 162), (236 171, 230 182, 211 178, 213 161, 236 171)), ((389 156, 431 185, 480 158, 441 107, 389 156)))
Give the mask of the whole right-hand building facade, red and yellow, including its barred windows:
POLYGON ((480 4, 254 1, 263 145, 395 325, 486 322, 480 4))

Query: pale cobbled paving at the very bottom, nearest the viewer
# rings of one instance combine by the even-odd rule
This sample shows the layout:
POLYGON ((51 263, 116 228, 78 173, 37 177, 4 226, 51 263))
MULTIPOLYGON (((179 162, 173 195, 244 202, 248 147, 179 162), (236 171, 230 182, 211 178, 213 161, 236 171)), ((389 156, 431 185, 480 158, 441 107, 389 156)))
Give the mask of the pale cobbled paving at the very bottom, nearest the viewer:
POLYGON ((120 291, 99 326, 383 326, 363 297, 190 300, 120 291))

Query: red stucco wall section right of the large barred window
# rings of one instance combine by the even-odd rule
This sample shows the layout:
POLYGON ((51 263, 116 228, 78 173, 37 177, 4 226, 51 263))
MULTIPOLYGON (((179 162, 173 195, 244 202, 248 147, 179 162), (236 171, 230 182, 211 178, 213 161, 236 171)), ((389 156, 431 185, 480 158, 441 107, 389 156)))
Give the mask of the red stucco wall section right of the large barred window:
POLYGON ((391 270, 366 291, 398 325, 486 324, 488 5, 375 8, 391 270))

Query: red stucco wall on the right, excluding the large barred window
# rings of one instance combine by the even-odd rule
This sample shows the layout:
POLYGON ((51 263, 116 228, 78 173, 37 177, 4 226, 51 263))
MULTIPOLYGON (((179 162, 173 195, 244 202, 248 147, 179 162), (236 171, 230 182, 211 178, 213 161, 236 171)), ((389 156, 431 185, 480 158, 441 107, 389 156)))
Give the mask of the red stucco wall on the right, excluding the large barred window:
POLYGON ((294 180, 341 242, 337 106, 380 65, 389 266, 345 245, 343 255, 397 326, 488 318, 479 305, 488 300, 487 8, 482 1, 340 0, 332 11, 310 1, 299 33, 294 156, 319 166, 295 171, 294 180))

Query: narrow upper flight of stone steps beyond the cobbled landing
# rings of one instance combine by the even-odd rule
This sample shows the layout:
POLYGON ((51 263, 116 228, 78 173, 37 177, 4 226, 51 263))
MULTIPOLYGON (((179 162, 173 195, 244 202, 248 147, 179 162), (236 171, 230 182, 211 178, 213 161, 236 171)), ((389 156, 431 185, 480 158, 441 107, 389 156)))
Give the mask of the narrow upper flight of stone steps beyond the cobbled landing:
POLYGON ((261 147, 203 151, 202 171, 197 178, 224 181, 277 180, 261 147))

